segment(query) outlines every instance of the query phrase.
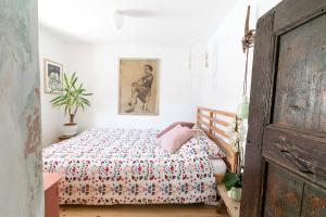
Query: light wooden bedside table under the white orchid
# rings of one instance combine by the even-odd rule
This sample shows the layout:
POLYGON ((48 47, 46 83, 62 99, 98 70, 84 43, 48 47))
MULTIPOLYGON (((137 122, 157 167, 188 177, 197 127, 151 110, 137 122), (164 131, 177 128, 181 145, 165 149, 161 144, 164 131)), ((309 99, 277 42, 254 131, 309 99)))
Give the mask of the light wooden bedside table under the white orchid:
POLYGON ((221 196, 221 203, 216 208, 216 213, 221 213, 223 210, 223 206, 226 206, 227 213, 230 217, 239 217, 240 215, 240 202, 231 200, 227 195, 227 191, 224 184, 216 184, 217 192, 221 196))

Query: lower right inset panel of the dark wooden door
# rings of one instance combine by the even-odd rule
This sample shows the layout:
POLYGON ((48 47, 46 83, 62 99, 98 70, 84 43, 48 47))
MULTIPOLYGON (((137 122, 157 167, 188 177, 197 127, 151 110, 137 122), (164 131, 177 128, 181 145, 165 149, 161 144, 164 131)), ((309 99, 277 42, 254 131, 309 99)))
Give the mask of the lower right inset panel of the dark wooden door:
POLYGON ((326 191, 312 184, 305 184, 302 217, 324 217, 326 216, 326 191))

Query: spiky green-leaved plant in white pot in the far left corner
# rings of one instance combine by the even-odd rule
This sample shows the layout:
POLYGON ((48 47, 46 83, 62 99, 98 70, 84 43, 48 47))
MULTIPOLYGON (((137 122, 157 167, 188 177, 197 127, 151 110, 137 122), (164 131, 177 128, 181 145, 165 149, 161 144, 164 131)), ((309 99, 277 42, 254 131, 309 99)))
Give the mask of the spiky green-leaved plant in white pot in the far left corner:
POLYGON ((71 77, 63 75, 62 94, 51 100, 53 107, 64 107, 64 114, 70 116, 70 122, 64 124, 63 135, 74 136, 78 132, 78 125, 75 123, 75 117, 79 108, 90 106, 87 99, 92 93, 87 93, 83 88, 83 84, 77 85, 77 76, 74 73, 71 77))

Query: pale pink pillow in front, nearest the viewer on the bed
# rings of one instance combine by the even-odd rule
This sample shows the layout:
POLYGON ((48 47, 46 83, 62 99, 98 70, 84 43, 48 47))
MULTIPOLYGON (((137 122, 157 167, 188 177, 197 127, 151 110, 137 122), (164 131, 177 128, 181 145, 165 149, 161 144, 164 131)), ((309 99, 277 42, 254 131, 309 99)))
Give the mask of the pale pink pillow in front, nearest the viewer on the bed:
POLYGON ((184 143, 196 135, 196 130, 177 125, 172 130, 159 138, 159 144, 170 152, 175 153, 184 143))

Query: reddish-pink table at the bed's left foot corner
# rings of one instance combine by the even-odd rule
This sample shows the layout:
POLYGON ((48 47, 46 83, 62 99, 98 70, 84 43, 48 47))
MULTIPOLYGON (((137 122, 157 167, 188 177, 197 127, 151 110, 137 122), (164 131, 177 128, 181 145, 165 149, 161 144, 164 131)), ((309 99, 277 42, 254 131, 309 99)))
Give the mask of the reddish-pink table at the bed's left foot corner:
POLYGON ((45 217, 59 217, 60 174, 43 173, 45 217))

